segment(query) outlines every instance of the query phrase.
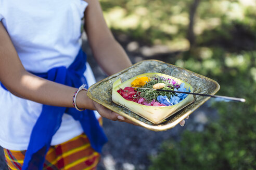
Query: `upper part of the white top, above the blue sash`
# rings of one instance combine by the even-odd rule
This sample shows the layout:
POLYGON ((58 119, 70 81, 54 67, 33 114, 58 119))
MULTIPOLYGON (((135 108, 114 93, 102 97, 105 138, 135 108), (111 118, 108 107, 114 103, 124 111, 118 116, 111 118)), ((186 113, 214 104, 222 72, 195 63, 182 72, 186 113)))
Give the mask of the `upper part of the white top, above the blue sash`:
POLYGON ((82 0, 0 0, 0 20, 24 67, 44 73, 73 62, 86 6, 82 0))

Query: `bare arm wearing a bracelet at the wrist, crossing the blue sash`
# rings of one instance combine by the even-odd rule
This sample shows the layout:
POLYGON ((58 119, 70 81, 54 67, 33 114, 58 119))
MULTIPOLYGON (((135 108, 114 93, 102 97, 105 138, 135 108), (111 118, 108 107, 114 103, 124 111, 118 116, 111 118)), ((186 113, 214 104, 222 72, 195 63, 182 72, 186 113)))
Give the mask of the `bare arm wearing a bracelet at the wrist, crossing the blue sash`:
MULTIPOLYGON (((72 97, 76 88, 34 76, 27 72, 12 45, 11 39, 0 22, 0 81, 13 94, 38 103, 73 107, 72 97)), ((78 106, 95 109, 85 91, 78 97, 78 106)))

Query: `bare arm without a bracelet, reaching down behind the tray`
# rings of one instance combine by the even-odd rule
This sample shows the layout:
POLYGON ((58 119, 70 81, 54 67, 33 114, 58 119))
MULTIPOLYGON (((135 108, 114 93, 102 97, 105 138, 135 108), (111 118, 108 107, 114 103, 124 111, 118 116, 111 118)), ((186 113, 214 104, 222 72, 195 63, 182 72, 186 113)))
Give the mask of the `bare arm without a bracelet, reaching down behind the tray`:
POLYGON ((97 63, 108 75, 131 66, 132 63, 124 49, 109 30, 99 2, 97 0, 85 1, 89 5, 85 10, 84 29, 97 63))

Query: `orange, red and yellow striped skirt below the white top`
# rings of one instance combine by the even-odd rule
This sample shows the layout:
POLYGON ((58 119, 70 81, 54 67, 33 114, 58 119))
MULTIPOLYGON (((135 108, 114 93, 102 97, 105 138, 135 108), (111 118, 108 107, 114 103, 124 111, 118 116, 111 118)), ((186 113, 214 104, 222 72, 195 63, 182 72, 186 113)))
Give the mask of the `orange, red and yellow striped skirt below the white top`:
MULTIPOLYGON (((8 168, 21 169, 25 152, 4 149, 8 168)), ((100 154, 91 147, 83 133, 65 143, 51 146, 46 154, 43 169, 96 169, 99 159, 100 154)))

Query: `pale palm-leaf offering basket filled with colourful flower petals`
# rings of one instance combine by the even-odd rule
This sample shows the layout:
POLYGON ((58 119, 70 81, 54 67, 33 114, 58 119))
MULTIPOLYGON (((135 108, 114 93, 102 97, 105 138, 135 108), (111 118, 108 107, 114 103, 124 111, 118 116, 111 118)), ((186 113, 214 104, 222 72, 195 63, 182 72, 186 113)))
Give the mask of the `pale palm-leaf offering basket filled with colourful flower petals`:
POLYGON ((148 121, 159 124, 194 101, 191 94, 155 89, 193 92, 190 84, 161 73, 137 75, 125 82, 113 82, 112 101, 148 121))

